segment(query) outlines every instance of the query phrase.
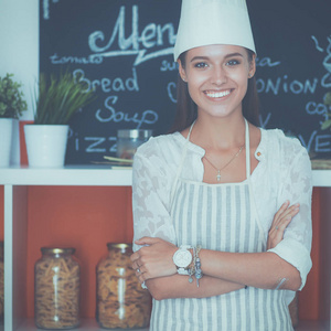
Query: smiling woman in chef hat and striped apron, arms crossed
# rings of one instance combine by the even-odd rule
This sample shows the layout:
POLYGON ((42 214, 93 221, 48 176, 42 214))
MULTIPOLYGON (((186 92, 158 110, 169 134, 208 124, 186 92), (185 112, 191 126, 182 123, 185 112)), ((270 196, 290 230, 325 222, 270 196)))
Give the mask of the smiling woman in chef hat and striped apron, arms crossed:
POLYGON ((298 140, 254 126, 247 24, 244 1, 183 1, 186 100, 177 131, 135 156, 131 259, 154 331, 292 330, 288 303, 311 268, 310 161, 298 140))

